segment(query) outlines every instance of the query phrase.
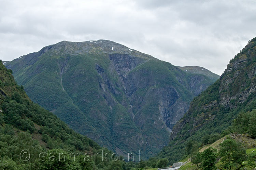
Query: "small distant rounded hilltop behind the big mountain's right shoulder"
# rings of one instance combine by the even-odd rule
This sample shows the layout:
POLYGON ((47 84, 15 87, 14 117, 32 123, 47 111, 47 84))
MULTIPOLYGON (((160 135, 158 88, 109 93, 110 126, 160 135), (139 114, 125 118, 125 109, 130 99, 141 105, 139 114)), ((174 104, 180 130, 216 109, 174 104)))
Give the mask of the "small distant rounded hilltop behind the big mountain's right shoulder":
POLYGON ((184 66, 184 67, 177 66, 177 67, 187 73, 206 75, 212 80, 217 80, 220 78, 218 74, 215 74, 203 67, 199 67, 199 66, 184 66))

